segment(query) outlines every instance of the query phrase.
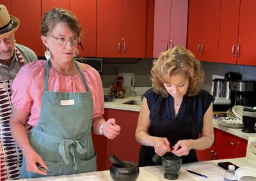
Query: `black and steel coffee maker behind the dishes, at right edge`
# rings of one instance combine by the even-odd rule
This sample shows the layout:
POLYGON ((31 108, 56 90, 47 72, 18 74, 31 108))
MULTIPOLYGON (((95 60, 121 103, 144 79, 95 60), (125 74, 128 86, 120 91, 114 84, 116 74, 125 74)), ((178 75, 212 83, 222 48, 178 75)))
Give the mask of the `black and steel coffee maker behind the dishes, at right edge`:
POLYGON ((256 81, 232 80, 230 81, 231 106, 256 106, 256 81))

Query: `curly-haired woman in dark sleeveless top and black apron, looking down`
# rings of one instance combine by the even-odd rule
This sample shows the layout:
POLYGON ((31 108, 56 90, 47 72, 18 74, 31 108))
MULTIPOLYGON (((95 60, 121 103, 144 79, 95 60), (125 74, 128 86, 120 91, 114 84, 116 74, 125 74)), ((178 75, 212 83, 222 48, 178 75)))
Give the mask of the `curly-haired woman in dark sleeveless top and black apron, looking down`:
POLYGON ((151 80, 136 129, 139 166, 161 164, 161 159, 154 163, 152 157, 168 152, 182 157, 182 163, 198 161, 195 149, 209 148, 214 141, 214 98, 200 89, 204 80, 200 62, 189 50, 175 47, 154 61, 151 80))

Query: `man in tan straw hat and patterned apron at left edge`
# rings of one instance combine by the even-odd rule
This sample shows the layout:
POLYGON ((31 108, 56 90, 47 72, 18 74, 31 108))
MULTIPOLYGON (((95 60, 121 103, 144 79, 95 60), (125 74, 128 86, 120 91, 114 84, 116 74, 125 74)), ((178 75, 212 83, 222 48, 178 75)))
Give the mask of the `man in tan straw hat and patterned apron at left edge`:
POLYGON ((1 181, 19 178, 22 153, 10 132, 11 86, 19 69, 37 59, 35 52, 15 43, 19 19, 0 4, 0 157, 1 181))

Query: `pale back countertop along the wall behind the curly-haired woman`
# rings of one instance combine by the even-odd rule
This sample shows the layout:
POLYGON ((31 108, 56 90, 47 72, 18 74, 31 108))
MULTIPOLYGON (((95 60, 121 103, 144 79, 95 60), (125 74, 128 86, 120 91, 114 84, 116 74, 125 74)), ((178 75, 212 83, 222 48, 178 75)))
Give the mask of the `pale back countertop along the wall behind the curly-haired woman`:
MULTIPOLYGON (((114 102, 105 102, 104 108, 140 112, 140 106, 138 106, 138 105, 123 104, 126 101, 131 101, 131 100, 141 101, 141 96, 118 98, 118 99, 115 99, 114 102)), ((240 138, 243 138, 244 140, 248 140, 249 137, 256 137, 256 133, 244 133, 242 131, 242 128, 229 128, 229 127, 221 126, 221 125, 217 124, 216 120, 214 120, 214 119, 213 119, 213 126, 216 127, 217 129, 220 129, 227 133, 230 133, 230 134, 233 134, 240 138)))

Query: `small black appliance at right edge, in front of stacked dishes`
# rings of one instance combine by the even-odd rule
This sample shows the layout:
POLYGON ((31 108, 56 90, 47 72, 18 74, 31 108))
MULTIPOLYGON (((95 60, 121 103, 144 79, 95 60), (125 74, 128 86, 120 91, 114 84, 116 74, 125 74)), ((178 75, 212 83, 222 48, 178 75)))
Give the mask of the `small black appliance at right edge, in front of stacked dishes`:
POLYGON ((255 123, 256 123, 256 108, 250 108, 250 107, 243 108, 244 127, 242 131, 244 133, 256 133, 254 128, 255 123))

